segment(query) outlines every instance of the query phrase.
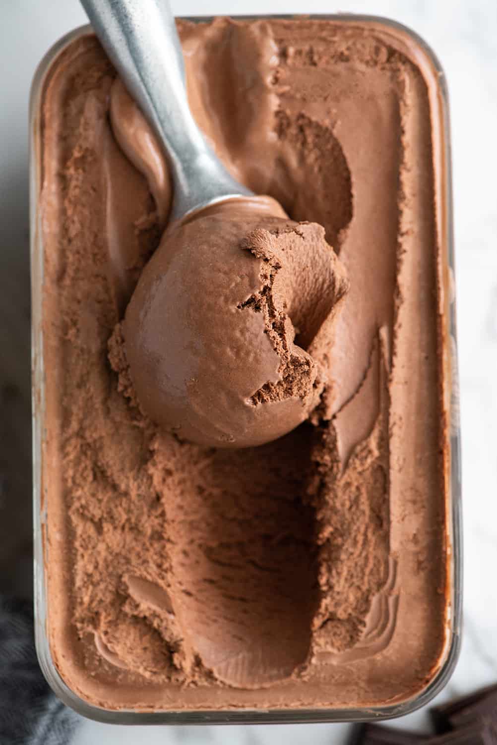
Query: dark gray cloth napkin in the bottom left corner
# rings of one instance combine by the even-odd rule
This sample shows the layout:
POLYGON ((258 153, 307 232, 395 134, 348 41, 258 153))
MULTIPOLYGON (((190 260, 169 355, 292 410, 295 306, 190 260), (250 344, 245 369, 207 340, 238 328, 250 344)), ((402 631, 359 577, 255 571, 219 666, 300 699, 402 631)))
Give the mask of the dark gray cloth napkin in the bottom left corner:
POLYGON ((39 669, 31 602, 0 595, 0 745, 68 745, 79 721, 39 669))

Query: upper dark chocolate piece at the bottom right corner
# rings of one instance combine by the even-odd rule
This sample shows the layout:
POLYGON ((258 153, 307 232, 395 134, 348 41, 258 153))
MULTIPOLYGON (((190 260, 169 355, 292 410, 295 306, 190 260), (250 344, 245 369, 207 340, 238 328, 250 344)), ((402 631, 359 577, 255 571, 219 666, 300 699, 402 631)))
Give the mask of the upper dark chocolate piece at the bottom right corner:
POLYGON ((461 696, 442 706, 434 706, 431 708, 431 716, 437 732, 446 732, 483 719, 491 719, 497 723, 497 685, 489 685, 469 696, 461 696))

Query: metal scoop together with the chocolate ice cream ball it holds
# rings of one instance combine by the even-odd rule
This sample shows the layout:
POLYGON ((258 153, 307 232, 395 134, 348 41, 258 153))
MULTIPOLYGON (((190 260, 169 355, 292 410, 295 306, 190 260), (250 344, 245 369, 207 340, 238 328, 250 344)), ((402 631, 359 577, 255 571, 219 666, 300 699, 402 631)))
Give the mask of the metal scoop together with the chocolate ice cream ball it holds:
MULTIPOLYGON (((142 410, 204 446, 257 446, 303 422, 326 384, 312 355, 347 288, 324 230, 235 181, 195 124, 164 0, 82 0, 159 136, 170 226, 122 326, 142 410)), ((328 330, 329 333, 329 330, 328 330)))

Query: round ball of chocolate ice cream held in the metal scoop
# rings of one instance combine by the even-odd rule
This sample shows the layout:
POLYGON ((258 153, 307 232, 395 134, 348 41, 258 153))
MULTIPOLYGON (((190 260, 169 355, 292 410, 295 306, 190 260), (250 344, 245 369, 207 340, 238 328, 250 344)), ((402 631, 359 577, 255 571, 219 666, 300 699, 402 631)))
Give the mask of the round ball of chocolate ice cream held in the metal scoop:
POLYGON ((315 340, 348 289, 323 227, 270 197, 229 200, 168 230, 122 333, 148 416, 204 446, 250 447, 308 418, 327 382, 315 340), (315 354, 314 354, 315 351, 315 354))

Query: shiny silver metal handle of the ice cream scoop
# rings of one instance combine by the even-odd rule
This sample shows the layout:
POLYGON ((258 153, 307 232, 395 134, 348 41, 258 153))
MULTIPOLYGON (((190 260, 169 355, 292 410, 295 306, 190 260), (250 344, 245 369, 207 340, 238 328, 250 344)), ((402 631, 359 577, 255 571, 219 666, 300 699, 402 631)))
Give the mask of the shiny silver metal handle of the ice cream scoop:
POLYGON ((81 0, 101 45, 156 130, 174 180, 171 219, 233 197, 253 197, 191 115, 180 39, 168 0, 81 0))

